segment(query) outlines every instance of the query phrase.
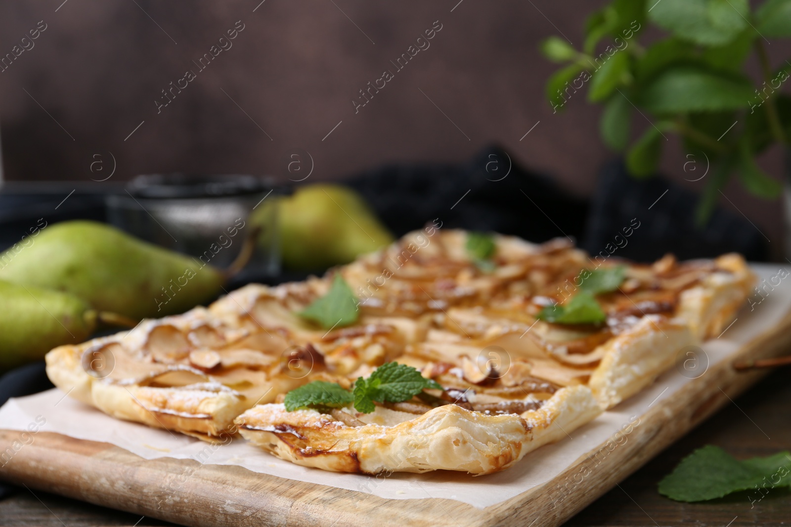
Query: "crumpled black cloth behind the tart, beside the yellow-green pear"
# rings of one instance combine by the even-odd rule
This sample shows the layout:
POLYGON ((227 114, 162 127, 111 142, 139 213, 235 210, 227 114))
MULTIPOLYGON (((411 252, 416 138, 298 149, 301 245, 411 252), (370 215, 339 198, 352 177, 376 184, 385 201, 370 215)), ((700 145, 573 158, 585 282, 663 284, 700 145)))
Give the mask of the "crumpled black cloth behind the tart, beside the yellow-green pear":
POLYGON ((435 218, 444 228, 517 235, 535 242, 566 235, 580 239, 589 201, 547 175, 513 164, 492 147, 461 165, 391 165, 346 181, 396 235, 435 218))

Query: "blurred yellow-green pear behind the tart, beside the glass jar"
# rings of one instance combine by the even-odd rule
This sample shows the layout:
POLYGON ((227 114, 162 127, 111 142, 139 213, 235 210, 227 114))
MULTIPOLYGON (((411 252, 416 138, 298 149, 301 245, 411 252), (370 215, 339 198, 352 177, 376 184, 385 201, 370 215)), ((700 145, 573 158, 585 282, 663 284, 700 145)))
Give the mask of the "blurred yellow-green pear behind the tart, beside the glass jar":
POLYGON ((282 262, 291 269, 322 269, 351 262, 392 243, 365 200, 341 185, 301 186, 280 198, 282 262))

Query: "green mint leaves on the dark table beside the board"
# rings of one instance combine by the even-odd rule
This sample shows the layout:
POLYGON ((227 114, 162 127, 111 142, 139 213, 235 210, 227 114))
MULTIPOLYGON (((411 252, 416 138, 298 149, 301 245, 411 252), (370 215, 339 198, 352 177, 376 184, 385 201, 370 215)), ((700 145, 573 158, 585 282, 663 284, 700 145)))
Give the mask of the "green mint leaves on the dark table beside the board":
POLYGON ((684 457, 659 482, 659 493, 679 502, 721 498, 736 491, 791 487, 791 454, 736 460, 718 446, 706 445, 684 457))

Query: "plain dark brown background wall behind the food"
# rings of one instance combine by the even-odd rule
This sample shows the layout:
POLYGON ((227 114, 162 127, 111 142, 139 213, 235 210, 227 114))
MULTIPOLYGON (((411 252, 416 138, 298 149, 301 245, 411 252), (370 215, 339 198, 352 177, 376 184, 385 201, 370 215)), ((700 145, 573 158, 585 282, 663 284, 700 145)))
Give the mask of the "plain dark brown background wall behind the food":
MULTIPOLYGON (((612 156, 598 137, 600 107, 582 93, 552 114, 543 85, 558 66, 537 50, 558 32, 579 47, 585 16, 603 2, 259 1, 2 0, 0 55, 38 21, 47 24, 35 47, 0 73, 6 179, 101 179, 111 152, 116 183, 154 171, 285 178, 299 148, 312 156, 309 183, 393 161, 463 161, 498 143, 585 195, 612 156), (390 61, 437 20, 430 47, 355 115, 358 90, 395 71, 390 61), (197 73, 191 61, 237 21, 244 31, 233 47, 197 73), (157 115, 161 90, 188 69, 198 77, 157 115)), ((769 48, 775 64, 791 51, 782 42, 769 48)), ((648 125, 638 116, 634 126, 648 125)), ((674 139, 668 148, 669 177, 698 177, 683 171, 674 139)), ((775 149, 762 163, 779 178, 781 161, 775 149)), ((736 183, 725 194, 725 207, 749 216, 778 256, 780 202, 752 198, 736 183)))

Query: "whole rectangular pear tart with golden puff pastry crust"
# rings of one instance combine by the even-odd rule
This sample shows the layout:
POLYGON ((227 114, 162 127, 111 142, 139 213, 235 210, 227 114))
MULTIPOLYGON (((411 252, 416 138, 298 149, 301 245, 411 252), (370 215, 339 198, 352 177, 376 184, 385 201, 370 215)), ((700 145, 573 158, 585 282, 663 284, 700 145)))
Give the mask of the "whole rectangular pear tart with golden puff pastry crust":
POLYGON ((644 389, 680 349, 725 329, 755 280, 736 254, 602 263, 566 239, 502 235, 494 237, 494 268, 483 270, 466 239, 464 231, 426 229, 323 278, 250 284, 207 308, 55 348, 47 375, 111 416, 206 441, 239 432, 301 465, 483 474, 644 389), (600 265, 624 265, 626 274, 617 291, 597 297, 604 325, 536 318, 600 265), (358 294, 360 317, 327 332, 297 313, 327 293, 334 273, 358 294), (371 416, 347 408, 341 421, 277 404, 316 379, 348 388, 389 361, 420 369, 445 391, 371 416), (397 455, 404 448, 409 457, 397 455))

